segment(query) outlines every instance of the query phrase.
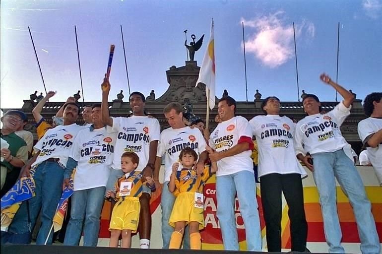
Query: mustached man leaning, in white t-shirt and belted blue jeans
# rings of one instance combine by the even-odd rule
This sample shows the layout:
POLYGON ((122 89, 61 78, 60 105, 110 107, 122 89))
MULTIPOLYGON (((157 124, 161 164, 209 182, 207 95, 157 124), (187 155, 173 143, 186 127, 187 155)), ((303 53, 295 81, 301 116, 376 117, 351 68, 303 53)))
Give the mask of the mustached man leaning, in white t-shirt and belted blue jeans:
MULTIPOLYGON (((29 176, 30 168, 35 167, 36 195, 28 200, 29 215, 28 209, 20 207, 8 232, 24 234, 33 229, 41 209, 42 225, 36 244, 44 245, 46 239, 48 239, 48 244, 52 243, 52 220, 63 191, 63 185, 68 185, 72 170, 69 166, 66 168, 66 163, 75 137, 84 128, 75 124, 78 115, 79 106, 75 103, 67 103, 64 106, 64 125, 49 129, 34 146, 36 154, 25 165, 21 175, 29 176), (30 218, 30 228, 25 225, 27 216, 30 218)), ((21 206, 26 206, 26 202, 23 202, 21 206)))

